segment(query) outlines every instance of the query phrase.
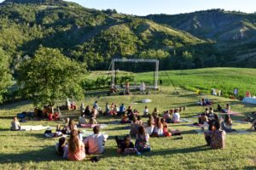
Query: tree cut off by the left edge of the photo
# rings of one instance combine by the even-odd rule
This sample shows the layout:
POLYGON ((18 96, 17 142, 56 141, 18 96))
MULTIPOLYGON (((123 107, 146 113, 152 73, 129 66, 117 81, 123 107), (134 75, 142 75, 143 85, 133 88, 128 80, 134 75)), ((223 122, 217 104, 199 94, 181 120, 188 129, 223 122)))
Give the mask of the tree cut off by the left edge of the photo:
POLYGON ((3 94, 11 85, 11 74, 9 71, 9 57, 2 48, 0 48, 0 103, 3 102, 3 94))

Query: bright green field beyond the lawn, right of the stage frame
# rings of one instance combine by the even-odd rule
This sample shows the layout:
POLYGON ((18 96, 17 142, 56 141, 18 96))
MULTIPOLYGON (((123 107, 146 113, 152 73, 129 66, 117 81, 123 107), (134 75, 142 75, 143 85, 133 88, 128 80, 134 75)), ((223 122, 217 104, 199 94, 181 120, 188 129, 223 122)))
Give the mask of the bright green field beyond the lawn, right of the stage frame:
MULTIPOLYGON (((246 68, 207 68, 186 71, 160 71, 160 79, 164 84, 171 84, 168 77, 177 87, 189 90, 200 89, 203 92, 211 93, 211 88, 222 90, 224 96, 233 94, 234 88, 239 89, 239 95, 243 97, 247 91, 256 95, 256 70, 246 68)), ((137 82, 153 82, 153 73, 137 74, 137 82)))

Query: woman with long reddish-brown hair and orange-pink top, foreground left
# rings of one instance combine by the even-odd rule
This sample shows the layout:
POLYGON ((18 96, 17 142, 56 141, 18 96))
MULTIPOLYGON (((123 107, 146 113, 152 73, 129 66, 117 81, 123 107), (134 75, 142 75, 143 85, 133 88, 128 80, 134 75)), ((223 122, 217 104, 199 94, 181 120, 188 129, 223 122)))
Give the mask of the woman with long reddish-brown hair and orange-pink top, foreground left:
POLYGON ((72 130, 68 140, 67 158, 70 161, 81 161, 85 158, 84 143, 79 140, 79 132, 72 130))

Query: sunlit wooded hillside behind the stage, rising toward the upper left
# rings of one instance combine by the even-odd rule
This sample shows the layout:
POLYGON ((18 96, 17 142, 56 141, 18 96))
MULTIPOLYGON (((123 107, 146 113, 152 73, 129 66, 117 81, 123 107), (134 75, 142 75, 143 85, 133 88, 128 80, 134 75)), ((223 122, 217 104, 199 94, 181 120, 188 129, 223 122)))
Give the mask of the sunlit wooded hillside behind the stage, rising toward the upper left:
POLYGON ((61 0, 7 0, 0 11, 0 47, 10 55, 13 67, 25 56, 32 57, 40 46, 59 48, 90 70, 108 69, 113 57, 148 56, 159 58, 168 68, 166 59, 174 50, 183 54, 196 45, 212 47, 212 42, 151 20, 61 0))

